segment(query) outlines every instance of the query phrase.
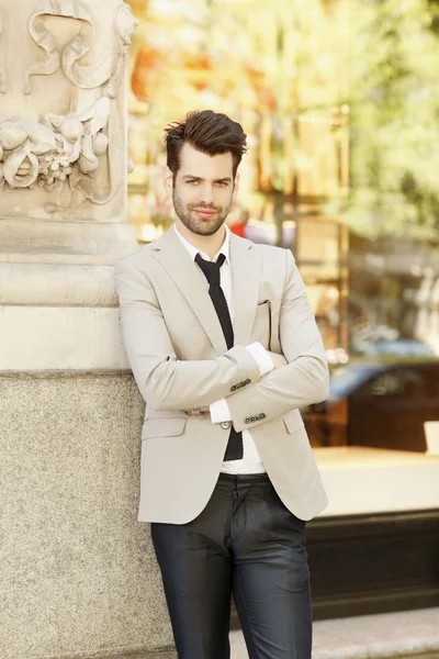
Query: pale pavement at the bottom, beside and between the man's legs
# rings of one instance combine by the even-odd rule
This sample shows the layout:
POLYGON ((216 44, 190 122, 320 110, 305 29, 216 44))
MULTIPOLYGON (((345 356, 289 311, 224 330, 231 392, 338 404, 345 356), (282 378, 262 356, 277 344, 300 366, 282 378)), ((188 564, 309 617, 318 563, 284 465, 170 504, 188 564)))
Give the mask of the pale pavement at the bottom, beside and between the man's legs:
MULTIPOLYGON (((439 607, 331 621, 313 627, 313 659, 439 659, 439 607)), ((241 632, 232 659, 248 659, 241 632)))

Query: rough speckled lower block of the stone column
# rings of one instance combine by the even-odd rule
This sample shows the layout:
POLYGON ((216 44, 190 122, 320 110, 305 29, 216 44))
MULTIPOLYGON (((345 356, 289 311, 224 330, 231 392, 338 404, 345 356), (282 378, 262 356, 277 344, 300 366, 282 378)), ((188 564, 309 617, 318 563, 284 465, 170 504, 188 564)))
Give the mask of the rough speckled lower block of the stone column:
POLYGON ((2 659, 172 656, 136 522, 143 412, 130 372, 0 376, 2 659))

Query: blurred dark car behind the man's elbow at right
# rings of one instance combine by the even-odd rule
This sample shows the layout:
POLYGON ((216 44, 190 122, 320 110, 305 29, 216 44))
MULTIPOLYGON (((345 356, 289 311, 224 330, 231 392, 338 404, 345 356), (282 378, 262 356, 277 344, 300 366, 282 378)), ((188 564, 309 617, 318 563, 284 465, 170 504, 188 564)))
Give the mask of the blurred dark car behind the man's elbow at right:
POLYGON ((425 451, 439 421, 439 360, 354 361, 335 369, 329 398, 303 410, 313 446, 425 451))

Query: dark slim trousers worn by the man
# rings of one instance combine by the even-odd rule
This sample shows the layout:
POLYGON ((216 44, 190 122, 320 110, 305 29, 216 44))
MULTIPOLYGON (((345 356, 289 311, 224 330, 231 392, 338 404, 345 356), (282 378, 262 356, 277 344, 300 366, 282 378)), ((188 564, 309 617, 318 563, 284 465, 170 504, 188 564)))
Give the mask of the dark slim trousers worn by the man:
POLYGON ((179 659, 228 659, 230 596, 250 659, 311 659, 305 522, 267 474, 219 474, 189 524, 153 524, 179 659))

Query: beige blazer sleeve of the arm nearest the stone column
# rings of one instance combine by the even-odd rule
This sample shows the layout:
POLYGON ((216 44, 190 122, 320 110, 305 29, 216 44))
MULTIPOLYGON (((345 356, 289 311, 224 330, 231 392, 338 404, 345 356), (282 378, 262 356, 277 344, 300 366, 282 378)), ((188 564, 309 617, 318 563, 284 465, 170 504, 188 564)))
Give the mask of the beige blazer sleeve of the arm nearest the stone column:
POLYGON ((134 264, 115 268, 120 319, 137 387, 155 410, 190 410, 230 395, 235 384, 258 381, 257 360, 244 346, 214 359, 178 360, 154 287, 134 264))

